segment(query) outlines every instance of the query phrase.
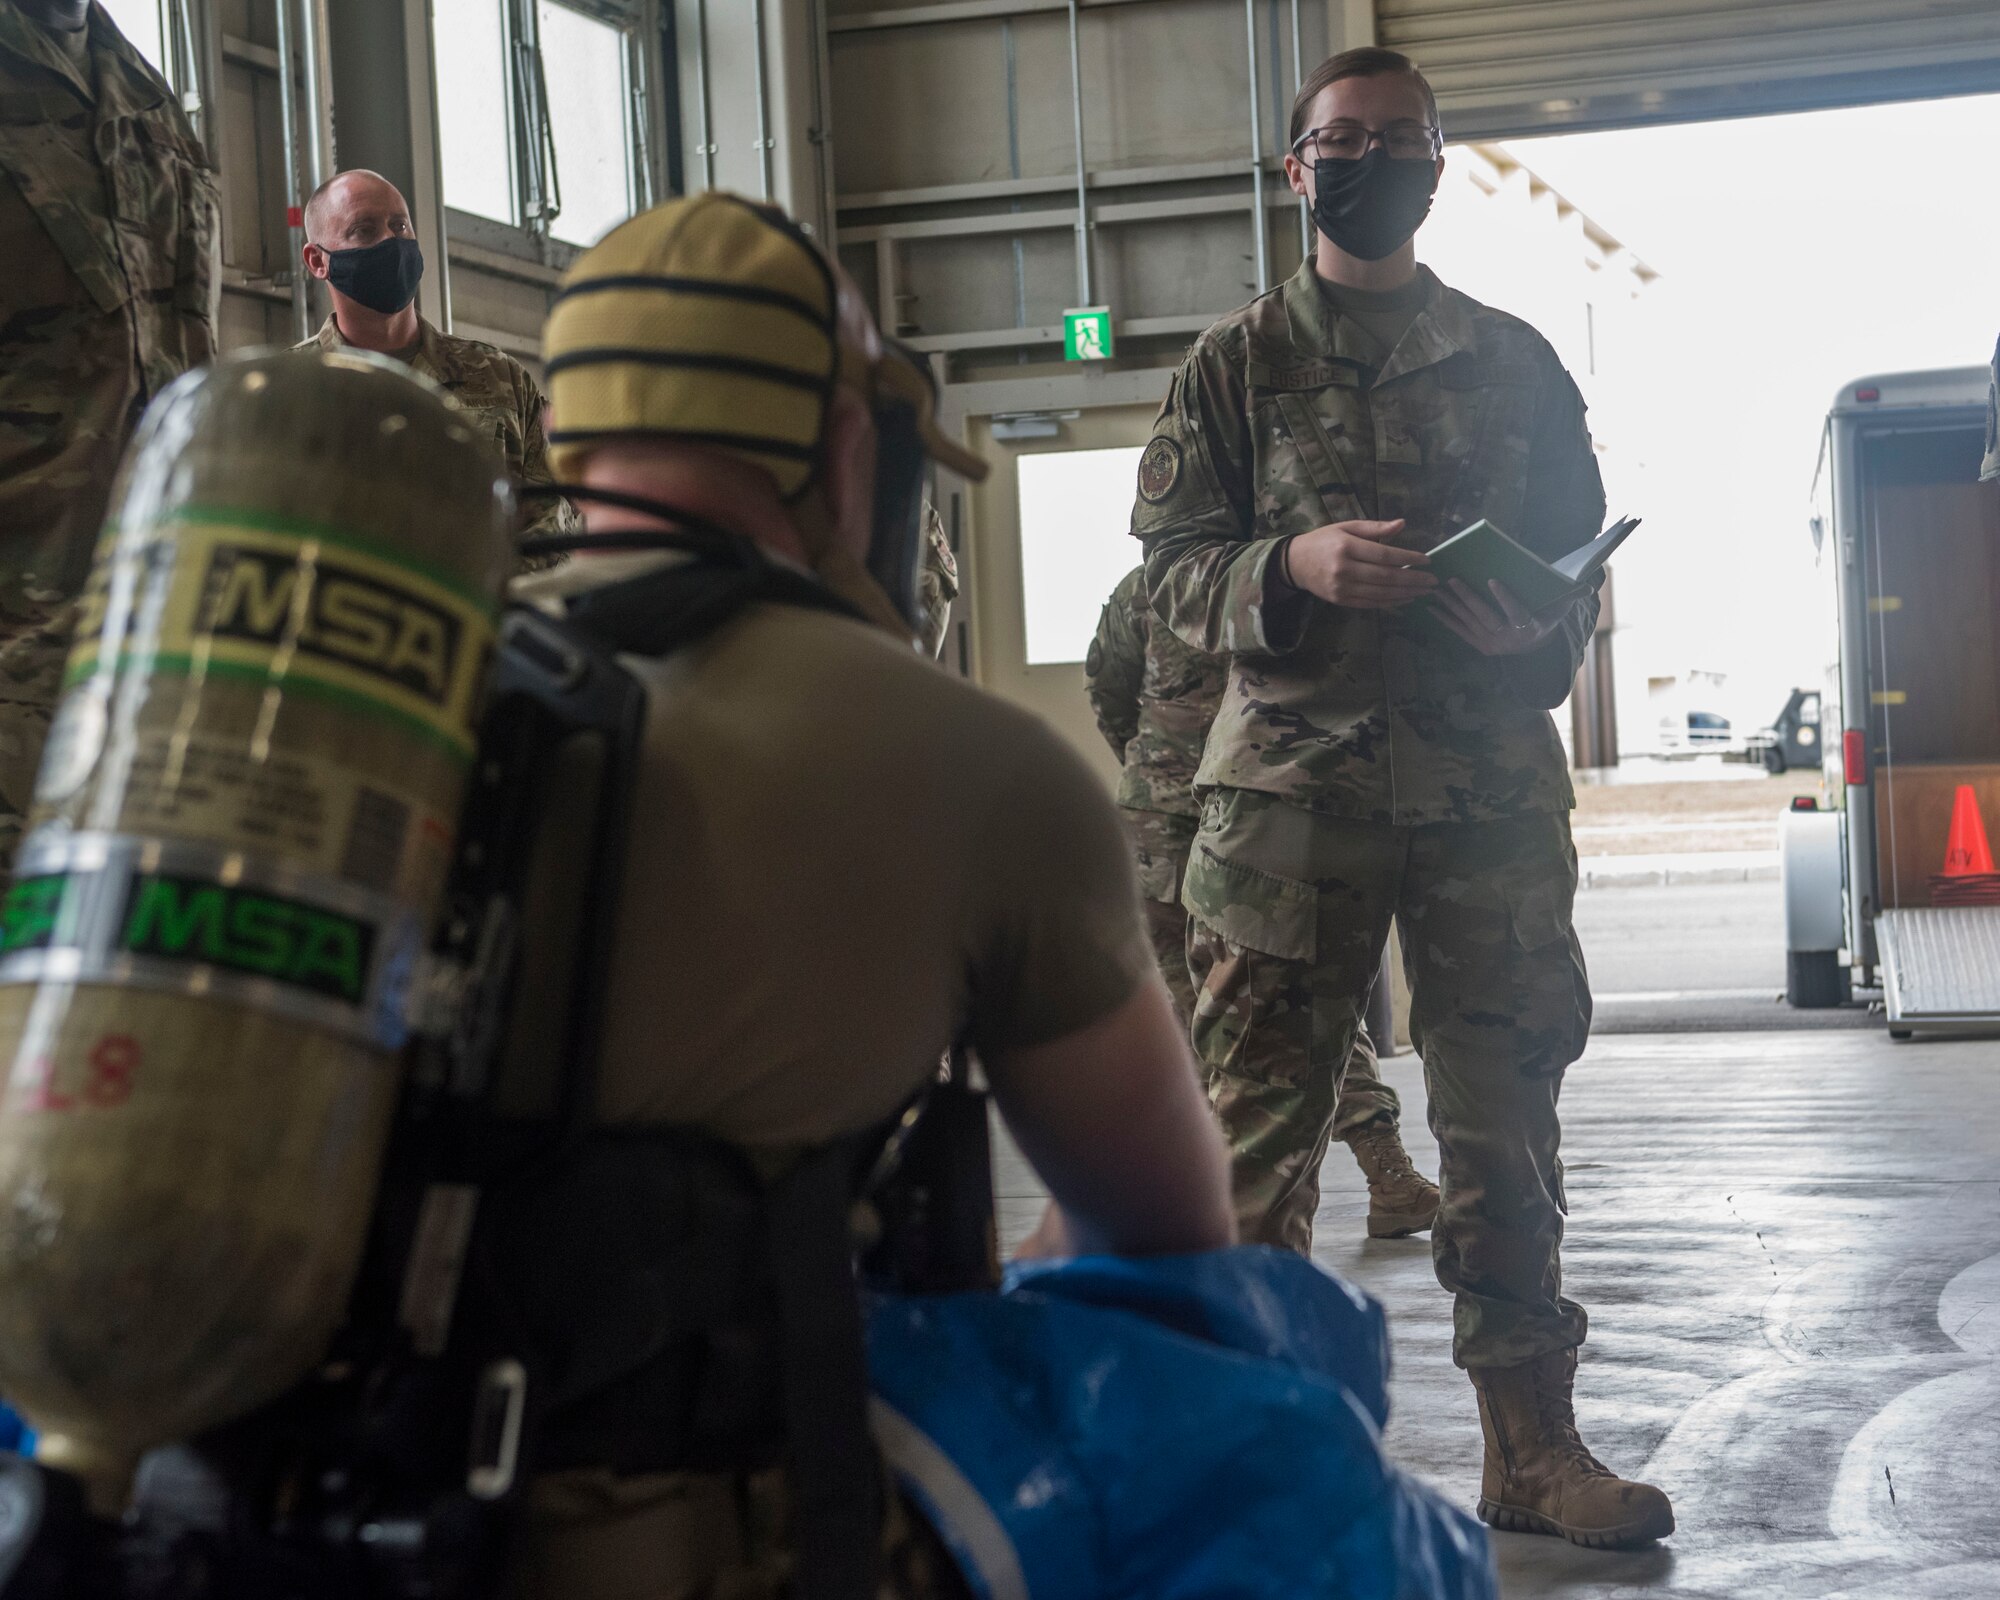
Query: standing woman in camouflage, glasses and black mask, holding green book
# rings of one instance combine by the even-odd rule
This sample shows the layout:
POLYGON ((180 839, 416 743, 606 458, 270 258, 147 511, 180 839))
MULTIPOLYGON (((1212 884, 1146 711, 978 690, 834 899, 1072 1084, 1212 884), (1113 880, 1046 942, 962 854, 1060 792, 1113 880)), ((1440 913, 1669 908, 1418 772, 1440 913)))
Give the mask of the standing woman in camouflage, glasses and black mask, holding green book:
POLYGON ((1556 1098, 1590 986, 1550 710, 1598 598, 1530 616, 1498 586, 1422 570, 1476 518, 1544 558, 1598 532, 1584 402, 1534 328, 1416 264, 1442 136, 1408 58, 1322 64, 1292 138, 1316 252, 1196 340, 1132 518, 1152 608, 1230 658, 1184 902, 1238 1226, 1310 1244, 1340 1068, 1394 918, 1438 1136, 1432 1252, 1486 1434, 1480 1514, 1638 1544, 1672 1532, 1672 1506, 1576 1432, 1586 1324, 1560 1270, 1556 1098))

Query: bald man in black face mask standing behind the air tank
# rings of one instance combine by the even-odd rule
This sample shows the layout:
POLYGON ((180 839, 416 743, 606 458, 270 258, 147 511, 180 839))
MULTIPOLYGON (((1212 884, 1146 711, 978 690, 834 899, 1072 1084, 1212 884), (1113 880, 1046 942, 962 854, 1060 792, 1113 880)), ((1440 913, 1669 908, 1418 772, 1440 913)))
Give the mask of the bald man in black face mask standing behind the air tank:
MULTIPOLYGON (((306 202, 306 272, 326 284, 332 316, 306 346, 376 350, 406 362, 492 434, 518 482, 546 484, 542 390, 518 360, 490 344, 440 334, 416 310, 424 252, 410 206, 380 172, 328 178, 306 202)), ((522 538, 570 534, 582 524, 566 500, 530 500, 522 538)))

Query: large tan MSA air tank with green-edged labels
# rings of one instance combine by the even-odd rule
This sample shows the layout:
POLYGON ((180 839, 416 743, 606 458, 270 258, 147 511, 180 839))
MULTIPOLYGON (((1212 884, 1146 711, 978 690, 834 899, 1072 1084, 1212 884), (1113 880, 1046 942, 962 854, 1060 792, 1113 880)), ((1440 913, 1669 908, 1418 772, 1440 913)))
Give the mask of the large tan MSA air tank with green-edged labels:
POLYGON ((0 1396, 100 1510, 342 1320, 512 522, 374 356, 190 374, 126 456, 0 902, 0 1396))

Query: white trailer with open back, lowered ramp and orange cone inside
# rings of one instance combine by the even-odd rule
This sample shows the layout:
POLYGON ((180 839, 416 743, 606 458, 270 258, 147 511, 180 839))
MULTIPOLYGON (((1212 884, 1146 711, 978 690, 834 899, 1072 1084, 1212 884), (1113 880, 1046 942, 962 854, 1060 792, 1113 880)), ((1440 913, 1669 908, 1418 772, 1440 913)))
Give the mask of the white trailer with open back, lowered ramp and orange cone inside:
POLYGON ((2000 1026, 2000 906, 1934 906, 1952 798, 2000 838, 2000 484, 1984 368, 1834 398, 1812 538, 1828 620, 1826 806, 1784 818, 1786 998, 1880 980, 1890 1034, 2000 1026))

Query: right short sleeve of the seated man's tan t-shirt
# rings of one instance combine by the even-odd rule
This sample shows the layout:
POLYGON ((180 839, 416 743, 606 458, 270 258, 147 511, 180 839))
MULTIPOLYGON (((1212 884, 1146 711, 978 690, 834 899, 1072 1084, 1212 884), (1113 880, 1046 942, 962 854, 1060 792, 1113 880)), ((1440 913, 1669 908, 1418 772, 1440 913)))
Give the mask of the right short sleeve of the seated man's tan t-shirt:
POLYGON ((976 840, 970 1034, 986 1052, 1086 1028, 1154 962, 1104 784, 1040 722, 1024 718, 1010 754, 976 840))

